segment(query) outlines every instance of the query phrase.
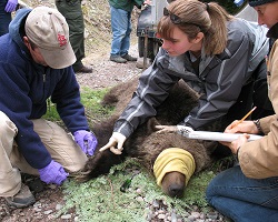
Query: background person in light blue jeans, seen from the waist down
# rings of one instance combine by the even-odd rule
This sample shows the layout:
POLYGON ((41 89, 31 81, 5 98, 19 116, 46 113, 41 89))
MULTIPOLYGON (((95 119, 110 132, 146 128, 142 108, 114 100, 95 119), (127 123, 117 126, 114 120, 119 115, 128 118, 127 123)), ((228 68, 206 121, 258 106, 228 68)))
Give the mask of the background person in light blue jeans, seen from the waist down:
POLYGON ((132 31, 131 12, 135 6, 140 8, 142 3, 150 4, 150 0, 109 0, 112 29, 111 61, 137 61, 137 58, 128 53, 132 31))

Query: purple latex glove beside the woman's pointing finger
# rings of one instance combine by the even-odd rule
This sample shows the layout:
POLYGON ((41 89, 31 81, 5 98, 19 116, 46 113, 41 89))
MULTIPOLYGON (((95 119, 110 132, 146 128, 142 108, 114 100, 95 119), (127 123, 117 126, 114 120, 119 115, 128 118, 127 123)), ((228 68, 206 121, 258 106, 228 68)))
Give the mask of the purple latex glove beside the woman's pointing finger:
POLYGON ((73 137, 77 144, 79 144, 79 147, 86 154, 93 155, 93 152, 98 145, 98 140, 92 132, 78 130, 73 133, 73 137))

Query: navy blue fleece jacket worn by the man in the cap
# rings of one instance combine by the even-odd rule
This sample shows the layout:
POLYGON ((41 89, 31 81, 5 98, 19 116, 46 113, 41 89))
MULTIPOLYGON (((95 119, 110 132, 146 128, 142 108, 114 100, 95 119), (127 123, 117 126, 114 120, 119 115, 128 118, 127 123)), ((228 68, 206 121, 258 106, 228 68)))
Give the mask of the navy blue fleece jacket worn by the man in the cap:
POLYGON ((16 142, 27 162, 42 169, 50 163, 51 157, 31 120, 46 114, 48 98, 57 104, 71 133, 89 130, 89 127, 72 68, 58 70, 40 65, 24 46, 22 22, 30 11, 20 9, 10 23, 9 33, 0 38, 0 111, 17 125, 16 142))

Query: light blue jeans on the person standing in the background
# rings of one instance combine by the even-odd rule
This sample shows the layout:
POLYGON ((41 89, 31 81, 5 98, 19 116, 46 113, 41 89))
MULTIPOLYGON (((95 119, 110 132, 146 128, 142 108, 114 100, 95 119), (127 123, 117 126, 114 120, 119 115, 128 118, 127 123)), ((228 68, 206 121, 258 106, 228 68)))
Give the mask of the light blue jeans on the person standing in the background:
POLYGON ((110 6, 112 44, 111 56, 125 56, 130 47, 130 33, 132 30, 131 12, 122 9, 116 9, 110 6))

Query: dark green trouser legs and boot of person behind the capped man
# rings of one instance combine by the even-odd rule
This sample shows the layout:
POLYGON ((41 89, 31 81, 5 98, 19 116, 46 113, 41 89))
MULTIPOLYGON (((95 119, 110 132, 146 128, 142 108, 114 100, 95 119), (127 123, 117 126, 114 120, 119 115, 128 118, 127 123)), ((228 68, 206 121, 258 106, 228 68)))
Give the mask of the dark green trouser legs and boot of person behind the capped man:
POLYGON ((56 7, 69 24, 70 43, 77 57, 75 72, 91 73, 92 68, 82 63, 85 58, 85 21, 81 0, 56 0, 56 7))

